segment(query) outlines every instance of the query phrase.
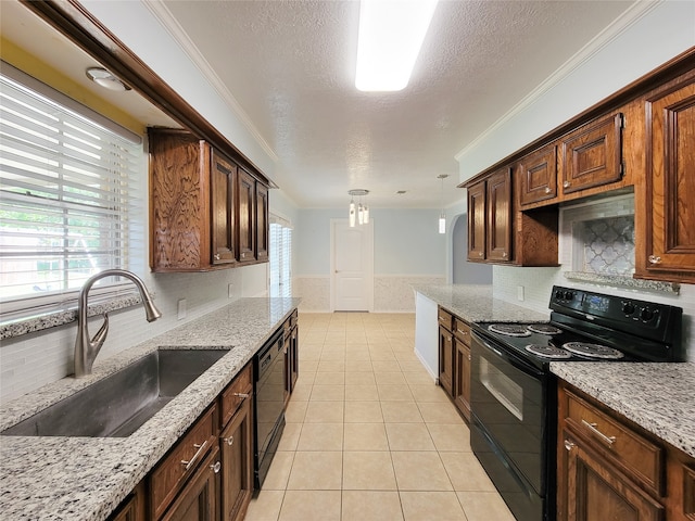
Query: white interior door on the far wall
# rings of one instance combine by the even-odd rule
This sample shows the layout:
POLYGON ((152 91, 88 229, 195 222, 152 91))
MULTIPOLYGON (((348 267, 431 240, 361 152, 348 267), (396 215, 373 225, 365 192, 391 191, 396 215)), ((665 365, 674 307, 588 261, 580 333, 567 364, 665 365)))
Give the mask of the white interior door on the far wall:
POLYGON ((331 302, 336 312, 370 312, 374 307, 374 223, 351 228, 331 221, 331 302))

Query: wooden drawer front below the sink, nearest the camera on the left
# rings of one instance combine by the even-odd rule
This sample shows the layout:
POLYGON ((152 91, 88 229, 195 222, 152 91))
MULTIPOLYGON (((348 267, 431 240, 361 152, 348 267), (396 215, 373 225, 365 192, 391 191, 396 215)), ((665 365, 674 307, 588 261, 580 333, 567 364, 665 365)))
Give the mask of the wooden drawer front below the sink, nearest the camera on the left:
POLYGON ((152 519, 159 519, 217 442, 217 408, 210 407, 150 474, 152 519))

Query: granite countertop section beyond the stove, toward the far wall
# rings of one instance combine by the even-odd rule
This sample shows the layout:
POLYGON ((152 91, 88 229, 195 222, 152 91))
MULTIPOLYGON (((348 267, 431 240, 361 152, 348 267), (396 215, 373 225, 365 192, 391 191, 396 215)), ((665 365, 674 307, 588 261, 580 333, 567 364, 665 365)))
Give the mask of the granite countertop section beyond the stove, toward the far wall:
POLYGON ((547 314, 495 298, 491 285, 414 284, 413 289, 468 322, 546 322, 547 314))

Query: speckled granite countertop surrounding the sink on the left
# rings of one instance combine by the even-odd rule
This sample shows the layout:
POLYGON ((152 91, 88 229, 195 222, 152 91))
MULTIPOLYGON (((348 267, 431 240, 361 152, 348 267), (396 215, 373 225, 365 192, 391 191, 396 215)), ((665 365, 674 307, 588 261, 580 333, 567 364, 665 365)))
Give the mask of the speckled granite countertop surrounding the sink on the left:
POLYGON ((231 348, 128 437, 0 436, 0 511, 12 520, 103 520, 253 358, 299 298, 240 298, 0 407, 0 430, 138 358, 166 348, 231 348))

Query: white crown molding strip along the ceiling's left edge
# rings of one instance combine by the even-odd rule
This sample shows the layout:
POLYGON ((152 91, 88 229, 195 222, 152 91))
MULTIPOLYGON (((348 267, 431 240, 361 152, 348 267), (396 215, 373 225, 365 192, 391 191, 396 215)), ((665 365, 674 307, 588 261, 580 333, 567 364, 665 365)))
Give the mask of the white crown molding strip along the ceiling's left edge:
POLYGON ((213 67, 210 65, 210 62, 207 62, 203 53, 200 52, 195 43, 193 43, 193 40, 190 39, 164 2, 162 0, 148 0, 142 3, 157 20, 157 22, 160 22, 169 36, 172 36, 172 38, 174 38, 174 40, 179 45, 181 50, 191 60, 210 85, 212 85, 229 110, 241 120, 247 130, 261 145, 263 151, 268 154, 273 161, 277 162, 278 156, 270 144, 263 138, 247 112, 231 94, 219 76, 217 76, 213 67))

